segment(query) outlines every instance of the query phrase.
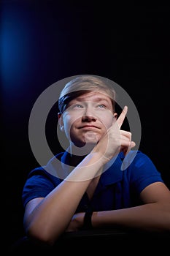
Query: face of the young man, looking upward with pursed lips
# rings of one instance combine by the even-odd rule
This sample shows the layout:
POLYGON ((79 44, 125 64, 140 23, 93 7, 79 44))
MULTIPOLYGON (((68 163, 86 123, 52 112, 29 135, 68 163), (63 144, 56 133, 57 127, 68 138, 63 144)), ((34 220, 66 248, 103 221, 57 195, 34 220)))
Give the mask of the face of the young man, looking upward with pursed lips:
POLYGON ((102 92, 91 91, 72 99, 59 117, 61 130, 77 147, 96 144, 115 121, 111 99, 102 92))

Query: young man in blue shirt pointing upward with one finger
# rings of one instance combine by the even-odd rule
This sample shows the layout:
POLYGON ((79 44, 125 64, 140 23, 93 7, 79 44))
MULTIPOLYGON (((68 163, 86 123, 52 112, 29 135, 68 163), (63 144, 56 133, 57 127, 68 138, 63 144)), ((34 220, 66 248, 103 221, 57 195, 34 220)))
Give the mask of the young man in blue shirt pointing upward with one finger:
POLYGON ((64 232, 83 228, 170 231, 169 189, 150 158, 133 150, 131 132, 121 129, 128 108, 117 117, 112 86, 81 75, 63 88, 58 107, 69 148, 28 175, 26 235, 53 245, 64 232), (134 154, 122 170, 123 159, 134 154), (58 175, 50 172, 55 159, 58 175))

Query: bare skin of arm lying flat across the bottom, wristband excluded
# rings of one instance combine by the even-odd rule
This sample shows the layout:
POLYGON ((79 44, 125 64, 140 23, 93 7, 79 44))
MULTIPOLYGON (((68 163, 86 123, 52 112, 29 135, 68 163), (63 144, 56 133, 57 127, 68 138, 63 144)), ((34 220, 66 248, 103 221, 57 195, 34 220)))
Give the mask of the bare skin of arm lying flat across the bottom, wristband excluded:
MULTIPOLYGON (((142 206, 92 214, 92 226, 125 227, 153 232, 170 232, 170 192, 162 182, 150 184, 141 192, 142 206)), ((75 214, 66 231, 83 225, 84 213, 75 214)))

